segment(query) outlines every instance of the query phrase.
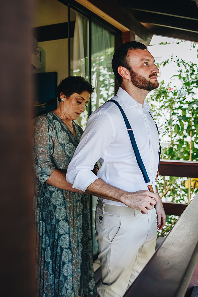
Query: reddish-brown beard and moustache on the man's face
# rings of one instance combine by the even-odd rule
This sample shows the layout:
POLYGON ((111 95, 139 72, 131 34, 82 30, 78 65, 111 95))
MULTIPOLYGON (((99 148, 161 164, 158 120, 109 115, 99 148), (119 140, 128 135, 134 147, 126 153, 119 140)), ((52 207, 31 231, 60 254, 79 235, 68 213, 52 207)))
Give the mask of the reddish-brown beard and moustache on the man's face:
MULTIPOLYGON (((159 83, 157 81, 151 82, 150 80, 147 80, 143 76, 137 74, 133 69, 130 70, 130 75, 132 83, 139 89, 152 91, 159 87, 159 83)), ((157 74, 150 74, 148 78, 151 78, 153 76, 157 76, 157 74)))

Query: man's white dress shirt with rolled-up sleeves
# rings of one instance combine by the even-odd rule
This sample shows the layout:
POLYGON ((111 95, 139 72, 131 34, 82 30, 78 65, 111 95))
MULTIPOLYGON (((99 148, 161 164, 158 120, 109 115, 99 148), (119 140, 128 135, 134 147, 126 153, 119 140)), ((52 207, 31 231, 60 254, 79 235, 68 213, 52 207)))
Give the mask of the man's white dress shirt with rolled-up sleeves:
MULTIPOLYGON (((155 122, 148 113, 151 107, 146 100, 142 107, 142 104, 121 87, 113 99, 121 105, 131 124, 142 161, 155 189, 159 136, 155 122)), ((72 187, 83 192, 97 178, 127 192, 148 190, 137 164, 123 116, 113 102, 106 102, 89 117, 66 174, 66 180, 73 184, 72 187), (101 168, 96 176, 91 170, 97 160, 101 168)), ((100 199, 103 203, 126 206, 121 202, 100 199)))

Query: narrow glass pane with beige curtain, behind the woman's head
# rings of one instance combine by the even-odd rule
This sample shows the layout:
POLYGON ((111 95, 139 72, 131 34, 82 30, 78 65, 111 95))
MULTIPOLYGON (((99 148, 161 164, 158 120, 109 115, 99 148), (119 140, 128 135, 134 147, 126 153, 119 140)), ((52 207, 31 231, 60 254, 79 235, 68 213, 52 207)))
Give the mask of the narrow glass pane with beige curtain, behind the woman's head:
MULTIPOLYGON (((89 20, 75 10, 70 9, 70 19, 75 19, 74 37, 71 42, 71 75, 83 76, 89 80, 89 20)), ((75 121, 85 129, 88 120, 88 107, 75 121)))

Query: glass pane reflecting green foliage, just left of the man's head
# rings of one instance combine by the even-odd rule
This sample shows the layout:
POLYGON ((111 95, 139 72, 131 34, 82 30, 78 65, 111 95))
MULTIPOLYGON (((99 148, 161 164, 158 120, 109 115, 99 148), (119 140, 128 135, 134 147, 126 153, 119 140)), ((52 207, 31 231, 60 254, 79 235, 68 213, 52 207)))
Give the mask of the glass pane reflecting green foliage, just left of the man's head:
POLYGON ((92 112, 114 96, 115 80, 111 66, 115 35, 104 27, 91 24, 91 82, 95 94, 91 99, 92 112))

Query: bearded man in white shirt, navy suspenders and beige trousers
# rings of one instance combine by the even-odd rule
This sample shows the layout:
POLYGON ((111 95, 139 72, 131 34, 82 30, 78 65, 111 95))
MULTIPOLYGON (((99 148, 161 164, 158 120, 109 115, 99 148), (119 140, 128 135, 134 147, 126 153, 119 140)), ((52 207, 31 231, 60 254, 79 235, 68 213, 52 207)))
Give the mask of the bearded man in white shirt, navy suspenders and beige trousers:
MULTIPOLYGON (((147 47, 135 41, 116 50, 112 67, 121 84, 113 99, 129 120, 155 189, 159 136, 145 97, 159 86, 159 69, 147 47)), ((166 215, 157 191, 148 191, 115 103, 105 103, 89 117, 66 179, 74 188, 99 197, 95 226, 102 282, 98 293, 121 297, 153 255, 157 225, 159 230, 164 227, 166 215), (95 176, 91 170, 98 159, 101 168, 95 176)))

